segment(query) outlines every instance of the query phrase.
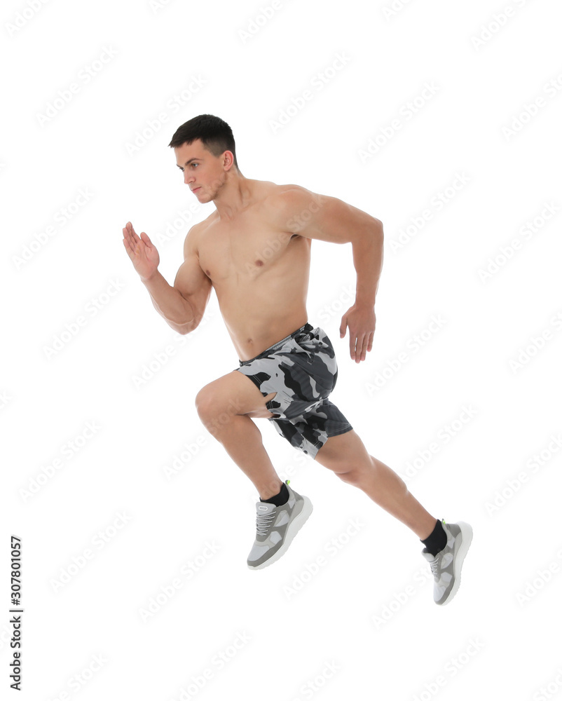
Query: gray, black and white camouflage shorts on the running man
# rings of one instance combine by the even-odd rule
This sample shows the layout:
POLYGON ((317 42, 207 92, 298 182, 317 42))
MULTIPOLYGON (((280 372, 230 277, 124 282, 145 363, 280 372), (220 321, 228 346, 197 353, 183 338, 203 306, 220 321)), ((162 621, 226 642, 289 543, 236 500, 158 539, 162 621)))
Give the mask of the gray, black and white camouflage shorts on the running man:
POLYGON ((324 329, 305 324, 236 368, 261 394, 277 392, 266 407, 277 433, 296 449, 315 458, 330 436, 352 430, 341 411, 327 398, 336 386, 338 365, 334 346, 324 329))

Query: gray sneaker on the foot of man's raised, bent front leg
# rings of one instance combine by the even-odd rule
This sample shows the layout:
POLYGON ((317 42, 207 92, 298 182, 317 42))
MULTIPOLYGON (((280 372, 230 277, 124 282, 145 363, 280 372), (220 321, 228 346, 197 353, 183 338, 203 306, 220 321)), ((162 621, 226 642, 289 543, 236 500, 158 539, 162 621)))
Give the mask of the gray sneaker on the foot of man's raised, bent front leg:
POLYGON ((278 560, 313 511, 308 496, 297 494, 289 479, 285 484, 289 490, 286 504, 256 503, 256 540, 247 559, 249 569, 262 569, 278 560))

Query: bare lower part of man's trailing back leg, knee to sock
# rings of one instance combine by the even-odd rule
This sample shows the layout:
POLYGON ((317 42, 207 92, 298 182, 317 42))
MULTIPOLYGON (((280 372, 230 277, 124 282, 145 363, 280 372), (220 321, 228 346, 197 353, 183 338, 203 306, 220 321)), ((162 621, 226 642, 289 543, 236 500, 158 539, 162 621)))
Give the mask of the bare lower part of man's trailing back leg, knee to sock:
POLYGON ((376 504, 408 526, 420 540, 432 533, 436 518, 427 512, 409 492, 404 480, 388 465, 373 458, 371 465, 361 470, 337 473, 344 482, 355 484, 376 504))

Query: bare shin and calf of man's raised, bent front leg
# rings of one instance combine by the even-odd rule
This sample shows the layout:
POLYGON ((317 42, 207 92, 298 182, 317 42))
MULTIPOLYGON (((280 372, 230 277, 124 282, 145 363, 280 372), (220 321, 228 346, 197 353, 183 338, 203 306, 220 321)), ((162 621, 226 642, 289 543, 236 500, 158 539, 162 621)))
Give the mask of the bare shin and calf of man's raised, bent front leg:
POLYGON ((249 477, 260 499, 279 494, 283 483, 263 447, 259 428, 249 416, 231 414, 227 421, 214 420, 205 423, 205 426, 249 477))

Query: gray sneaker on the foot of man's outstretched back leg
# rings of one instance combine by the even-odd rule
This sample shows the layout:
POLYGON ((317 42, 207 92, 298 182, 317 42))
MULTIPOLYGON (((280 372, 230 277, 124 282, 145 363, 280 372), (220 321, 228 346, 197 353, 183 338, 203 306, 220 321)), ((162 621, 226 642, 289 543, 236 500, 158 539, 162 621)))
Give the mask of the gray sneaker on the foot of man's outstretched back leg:
POLYGON ((472 542, 472 526, 463 521, 447 524, 445 519, 441 520, 441 524, 447 534, 447 544, 437 555, 428 552, 427 547, 424 547, 422 554, 430 563, 433 573, 433 600, 444 606, 455 596, 460 585, 460 568, 472 542))

